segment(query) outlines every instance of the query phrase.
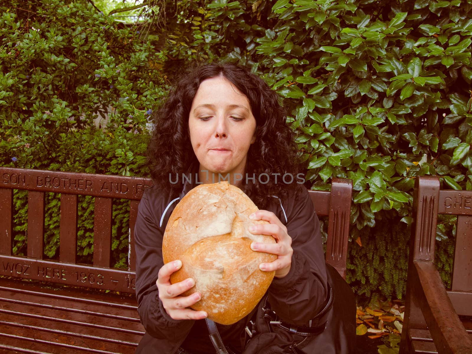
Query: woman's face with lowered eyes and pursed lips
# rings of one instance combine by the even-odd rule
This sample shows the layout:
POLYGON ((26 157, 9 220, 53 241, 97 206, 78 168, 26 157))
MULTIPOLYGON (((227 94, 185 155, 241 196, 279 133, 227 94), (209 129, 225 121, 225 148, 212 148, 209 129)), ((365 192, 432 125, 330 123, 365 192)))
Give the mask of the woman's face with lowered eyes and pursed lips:
POLYGON ((202 81, 188 117, 190 141, 201 170, 245 172, 256 120, 247 97, 222 76, 202 81))

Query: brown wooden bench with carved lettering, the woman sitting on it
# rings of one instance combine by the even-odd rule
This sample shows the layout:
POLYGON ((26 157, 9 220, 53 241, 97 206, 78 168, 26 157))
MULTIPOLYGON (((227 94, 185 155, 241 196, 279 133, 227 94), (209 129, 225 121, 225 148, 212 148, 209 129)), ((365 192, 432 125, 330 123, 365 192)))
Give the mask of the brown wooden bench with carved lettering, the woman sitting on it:
MULTIPOLYGON (((134 224, 146 178, 0 168, 0 353, 134 353, 134 224), (28 191, 27 255, 13 254, 14 190, 28 191), (45 193, 60 194, 59 259, 44 255, 45 193), (76 262, 78 195, 94 197, 93 264, 76 262), (113 199, 129 200, 126 269, 110 266, 113 199), (111 292, 107 292, 111 291, 111 292)), ((352 182, 310 191, 328 217, 326 261, 345 278, 352 182)), ((354 320, 354 319, 353 319, 354 320)))

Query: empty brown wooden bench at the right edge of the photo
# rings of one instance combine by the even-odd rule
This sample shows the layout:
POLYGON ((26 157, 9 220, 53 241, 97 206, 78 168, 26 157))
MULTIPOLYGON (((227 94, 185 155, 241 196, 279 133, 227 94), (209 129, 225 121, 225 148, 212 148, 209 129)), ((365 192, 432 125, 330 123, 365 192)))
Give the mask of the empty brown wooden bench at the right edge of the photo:
POLYGON ((458 315, 472 316, 472 191, 440 190, 438 177, 416 177, 413 215, 400 353, 470 354, 472 322, 458 315), (451 290, 434 265, 438 214, 457 215, 451 290))

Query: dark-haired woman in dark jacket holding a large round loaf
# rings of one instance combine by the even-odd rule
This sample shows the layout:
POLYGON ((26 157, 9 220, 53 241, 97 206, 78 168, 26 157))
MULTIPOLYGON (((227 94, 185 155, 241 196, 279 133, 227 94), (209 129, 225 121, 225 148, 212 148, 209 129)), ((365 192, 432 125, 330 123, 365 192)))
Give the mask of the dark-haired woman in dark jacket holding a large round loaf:
POLYGON ((183 76, 154 118, 149 144, 154 186, 143 195, 135 227, 136 295, 146 329, 136 353, 215 352, 207 314, 189 307, 202 294, 180 295, 194 286, 194 280, 171 285, 169 277, 181 262, 163 265, 162 261, 162 235, 169 216, 197 182, 176 183, 182 174, 198 174, 198 183, 229 177, 261 209, 252 218, 270 223, 250 232, 272 235, 277 241, 251 247, 278 256, 260 265, 263 271, 275 270, 264 310, 270 306, 278 320, 294 326, 294 333, 267 330, 261 303, 256 313, 234 325, 217 325, 229 353, 273 353, 274 348, 295 352, 295 346, 303 346, 298 343, 309 342, 296 326, 316 324, 330 292, 319 221, 308 192, 296 183, 296 145, 277 94, 242 67, 209 64, 183 76), (270 177, 267 183, 266 175, 259 178, 263 174, 270 177), (285 183, 289 175, 294 177, 292 183, 285 183), (246 326, 257 331, 249 343, 251 330, 244 330, 246 326))

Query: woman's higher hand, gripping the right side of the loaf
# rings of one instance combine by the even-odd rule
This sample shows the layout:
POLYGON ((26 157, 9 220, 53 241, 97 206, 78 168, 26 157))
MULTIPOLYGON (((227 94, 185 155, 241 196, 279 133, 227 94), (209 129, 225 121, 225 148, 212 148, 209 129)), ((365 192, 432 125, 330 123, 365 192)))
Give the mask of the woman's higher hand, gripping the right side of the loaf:
POLYGON ((261 263, 259 269, 263 271, 275 270, 276 278, 284 278, 290 266, 292 265, 292 237, 287 234, 287 228, 271 211, 258 210, 249 215, 249 219, 266 220, 269 224, 253 225, 249 228, 249 232, 256 235, 271 235, 277 243, 266 244, 261 242, 253 242, 251 249, 257 252, 272 253, 277 255, 277 259, 270 263, 261 263))

